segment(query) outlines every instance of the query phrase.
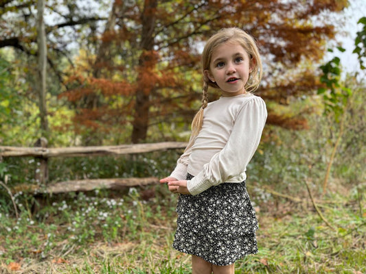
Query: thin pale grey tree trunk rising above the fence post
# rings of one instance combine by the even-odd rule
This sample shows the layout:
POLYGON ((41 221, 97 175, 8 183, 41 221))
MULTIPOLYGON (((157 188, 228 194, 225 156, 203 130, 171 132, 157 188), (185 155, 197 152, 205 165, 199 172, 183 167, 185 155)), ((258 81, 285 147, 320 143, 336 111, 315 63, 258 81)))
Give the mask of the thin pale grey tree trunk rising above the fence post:
POLYGON ((47 65, 47 44, 45 23, 43 21, 43 10, 45 1, 38 0, 37 10, 37 44, 38 44, 38 95, 39 95, 39 116, 41 118, 42 136, 48 137, 47 105, 46 105, 46 65, 47 65))

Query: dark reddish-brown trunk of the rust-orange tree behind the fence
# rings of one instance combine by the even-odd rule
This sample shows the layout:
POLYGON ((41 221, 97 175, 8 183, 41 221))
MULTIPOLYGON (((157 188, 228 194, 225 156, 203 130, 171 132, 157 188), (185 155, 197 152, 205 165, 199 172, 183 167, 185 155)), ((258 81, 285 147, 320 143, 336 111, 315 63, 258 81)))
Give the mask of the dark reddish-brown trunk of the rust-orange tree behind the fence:
POLYGON ((149 108, 150 108, 150 92, 154 88, 146 83, 144 75, 152 73, 156 62, 152 61, 152 53, 154 47, 154 28, 155 28, 155 12, 157 8, 157 0, 145 0, 144 11, 141 13, 141 53, 139 57, 139 75, 137 77, 139 87, 136 90, 135 115, 133 118, 133 134, 132 142, 143 142, 146 139, 149 124, 149 108), (142 85, 141 83, 144 83, 142 85))

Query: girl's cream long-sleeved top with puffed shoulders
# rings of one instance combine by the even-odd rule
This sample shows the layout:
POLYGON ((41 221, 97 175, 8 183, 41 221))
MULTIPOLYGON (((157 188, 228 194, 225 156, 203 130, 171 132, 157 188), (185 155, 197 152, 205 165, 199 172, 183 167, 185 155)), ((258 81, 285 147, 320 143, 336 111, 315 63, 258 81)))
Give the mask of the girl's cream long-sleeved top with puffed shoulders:
POLYGON ((170 175, 179 180, 187 173, 192 195, 222 182, 240 183, 247 179, 247 164, 253 157, 266 123, 263 99, 249 94, 220 97, 207 105, 203 126, 196 138, 190 138, 187 149, 170 175))

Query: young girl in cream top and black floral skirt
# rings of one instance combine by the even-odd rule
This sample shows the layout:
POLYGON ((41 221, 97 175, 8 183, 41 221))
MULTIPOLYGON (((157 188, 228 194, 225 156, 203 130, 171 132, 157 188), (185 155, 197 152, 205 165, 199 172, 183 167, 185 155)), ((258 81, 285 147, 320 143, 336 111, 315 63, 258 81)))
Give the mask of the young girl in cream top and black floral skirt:
POLYGON ((255 40, 234 27, 207 41, 202 64, 202 107, 190 142, 160 182, 180 194, 173 247, 192 255, 193 273, 234 273, 236 260, 258 251, 258 223, 244 180, 267 117, 264 101, 251 94, 262 62, 255 40), (221 93, 211 103, 209 86, 221 93))

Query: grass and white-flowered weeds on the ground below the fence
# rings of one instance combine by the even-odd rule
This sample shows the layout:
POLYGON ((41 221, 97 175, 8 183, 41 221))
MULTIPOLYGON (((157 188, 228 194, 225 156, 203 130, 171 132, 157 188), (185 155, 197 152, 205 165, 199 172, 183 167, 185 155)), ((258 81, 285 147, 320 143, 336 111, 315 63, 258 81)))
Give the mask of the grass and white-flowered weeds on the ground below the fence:
MULTIPOLYGON (((48 197, 38 212, 16 197, 19 219, 0 213, 0 273, 190 273, 190 256, 171 247, 176 196, 156 186, 144 201, 141 191, 48 197)), ((366 273, 365 201, 352 189, 323 197, 333 231, 302 197, 257 201, 260 251, 236 273, 366 273)))

